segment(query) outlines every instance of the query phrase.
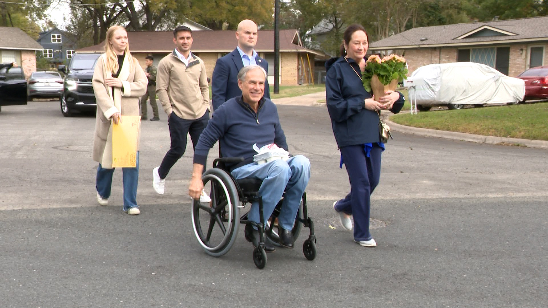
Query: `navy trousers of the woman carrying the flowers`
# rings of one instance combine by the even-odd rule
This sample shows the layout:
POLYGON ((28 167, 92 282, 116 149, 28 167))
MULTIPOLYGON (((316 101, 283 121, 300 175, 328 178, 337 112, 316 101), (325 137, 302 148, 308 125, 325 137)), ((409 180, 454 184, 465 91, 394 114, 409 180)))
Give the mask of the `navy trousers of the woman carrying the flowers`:
POLYGON ((366 156, 363 145, 340 148, 350 178, 350 193, 336 203, 336 209, 354 217, 354 239, 369 241, 370 197, 379 184, 380 158, 383 150, 376 144, 366 156))

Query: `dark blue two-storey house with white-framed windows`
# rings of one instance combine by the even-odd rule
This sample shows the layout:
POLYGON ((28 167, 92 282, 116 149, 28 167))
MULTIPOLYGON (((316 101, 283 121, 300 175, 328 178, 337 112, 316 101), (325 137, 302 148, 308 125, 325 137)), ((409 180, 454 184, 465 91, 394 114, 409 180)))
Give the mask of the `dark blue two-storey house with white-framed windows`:
POLYGON ((52 64, 67 63, 77 48, 75 36, 53 27, 38 33, 36 40, 42 45, 42 56, 52 64))

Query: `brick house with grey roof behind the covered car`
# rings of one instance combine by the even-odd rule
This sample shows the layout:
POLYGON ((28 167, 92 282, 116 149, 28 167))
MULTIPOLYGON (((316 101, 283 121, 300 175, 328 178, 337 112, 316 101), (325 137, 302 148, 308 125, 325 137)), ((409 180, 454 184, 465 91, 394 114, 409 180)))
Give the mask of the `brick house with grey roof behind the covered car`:
POLYGON ((369 45, 374 53, 403 54, 409 73, 421 66, 478 62, 516 77, 548 65, 548 16, 412 28, 369 45))

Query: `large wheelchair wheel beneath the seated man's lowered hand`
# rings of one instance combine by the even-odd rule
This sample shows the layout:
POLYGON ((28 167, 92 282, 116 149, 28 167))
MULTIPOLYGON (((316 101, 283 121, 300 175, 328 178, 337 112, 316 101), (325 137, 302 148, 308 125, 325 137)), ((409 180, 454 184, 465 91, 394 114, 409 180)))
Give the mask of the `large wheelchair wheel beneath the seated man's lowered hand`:
POLYGON ((239 227, 239 198, 236 185, 224 170, 212 168, 202 176, 204 190, 212 201, 192 201, 192 227, 199 244, 212 256, 232 247, 239 227))

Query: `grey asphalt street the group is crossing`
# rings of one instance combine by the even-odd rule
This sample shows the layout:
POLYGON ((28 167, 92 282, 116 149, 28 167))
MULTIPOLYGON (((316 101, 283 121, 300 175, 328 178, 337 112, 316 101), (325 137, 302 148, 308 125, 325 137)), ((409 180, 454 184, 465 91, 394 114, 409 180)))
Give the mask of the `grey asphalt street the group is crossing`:
POLYGON ((94 115, 62 117, 58 101, 2 107, 0 306, 546 307, 547 150, 394 133, 372 197, 378 247, 364 248, 332 208, 350 185, 326 108, 278 112, 290 152, 311 161, 318 255, 304 258, 302 230, 258 270, 243 228, 220 258, 199 246, 190 140, 165 194, 152 189, 164 113, 142 121, 141 214, 129 216, 121 170, 109 206, 95 199, 94 115))

